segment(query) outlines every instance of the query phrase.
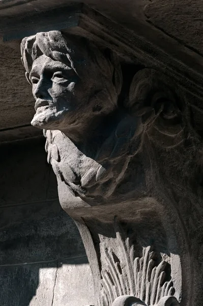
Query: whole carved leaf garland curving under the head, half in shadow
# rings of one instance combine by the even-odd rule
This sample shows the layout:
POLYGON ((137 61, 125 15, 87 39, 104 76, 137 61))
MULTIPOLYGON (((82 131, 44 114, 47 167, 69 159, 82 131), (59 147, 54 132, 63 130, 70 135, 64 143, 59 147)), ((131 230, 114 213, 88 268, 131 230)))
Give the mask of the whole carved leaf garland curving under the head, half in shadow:
POLYGON ((134 145, 132 150, 131 132, 132 122, 129 117, 124 118, 91 158, 62 132, 44 131, 48 163, 51 163, 58 180, 65 182, 73 195, 108 198, 123 179, 131 157, 139 150, 141 136, 136 137, 137 150, 134 145))

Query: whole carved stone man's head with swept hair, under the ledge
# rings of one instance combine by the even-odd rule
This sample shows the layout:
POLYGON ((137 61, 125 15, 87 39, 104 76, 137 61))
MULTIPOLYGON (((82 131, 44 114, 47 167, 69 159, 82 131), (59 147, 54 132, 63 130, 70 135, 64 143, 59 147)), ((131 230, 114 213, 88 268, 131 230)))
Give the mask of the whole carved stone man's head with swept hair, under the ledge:
POLYGON ((120 64, 104 53, 85 38, 73 39, 59 31, 24 38, 22 62, 36 99, 31 123, 71 134, 117 108, 120 64))

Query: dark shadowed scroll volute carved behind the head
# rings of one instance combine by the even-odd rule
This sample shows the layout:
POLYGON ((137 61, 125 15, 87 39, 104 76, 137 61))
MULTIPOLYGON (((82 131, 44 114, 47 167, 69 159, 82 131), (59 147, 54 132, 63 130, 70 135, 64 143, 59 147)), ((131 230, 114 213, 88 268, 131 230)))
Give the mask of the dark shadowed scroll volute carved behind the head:
POLYGON ((141 117, 143 134, 147 133, 154 144, 163 148, 184 141, 185 102, 178 97, 177 90, 165 75, 149 68, 138 71, 130 87, 127 107, 141 117))

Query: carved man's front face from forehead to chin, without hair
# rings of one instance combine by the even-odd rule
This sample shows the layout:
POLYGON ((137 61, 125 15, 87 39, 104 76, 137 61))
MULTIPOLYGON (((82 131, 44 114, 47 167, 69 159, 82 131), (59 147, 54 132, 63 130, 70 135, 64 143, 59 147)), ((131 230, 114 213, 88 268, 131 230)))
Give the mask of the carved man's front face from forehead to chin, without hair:
MULTIPOLYGON (((34 126, 44 129, 60 126, 67 114, 69 121, 73 120, 73 110, 80 101, 74 95, 79 80, 71 68, 43 55, 34 61, 30 80, 36 99, 34 126)), ((76 94, 79 95, 78 90, 76 94)))

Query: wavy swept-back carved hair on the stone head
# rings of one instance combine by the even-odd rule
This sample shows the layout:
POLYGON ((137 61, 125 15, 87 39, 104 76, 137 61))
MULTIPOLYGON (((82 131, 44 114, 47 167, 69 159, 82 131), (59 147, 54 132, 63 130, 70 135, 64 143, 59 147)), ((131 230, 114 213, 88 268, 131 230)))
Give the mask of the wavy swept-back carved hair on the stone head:
POLYGON ((31 83, 29 77, 33 62, 45 55, 54 61, 70 66, 78 75, 81 70, 84 74, 86 65, 87 77, 90 77, 91 68, 93 68, 92 71, 95 71, 96 66, 97 71, 99 68, 107 91, 111 92, 113 83, 114 94, 118 96, 121 92, 123 78, 117 55, 110 50, 100 50, 84 37, 73 37, 73 35, 62 34, 59 31, 37 33, 22 40, 21 55, 26 70, 25 76, 29 83, 31 83), (109 80, 112 80, 112 83, 109 80), (109 88, 110 83, 111 88, 109 88))

